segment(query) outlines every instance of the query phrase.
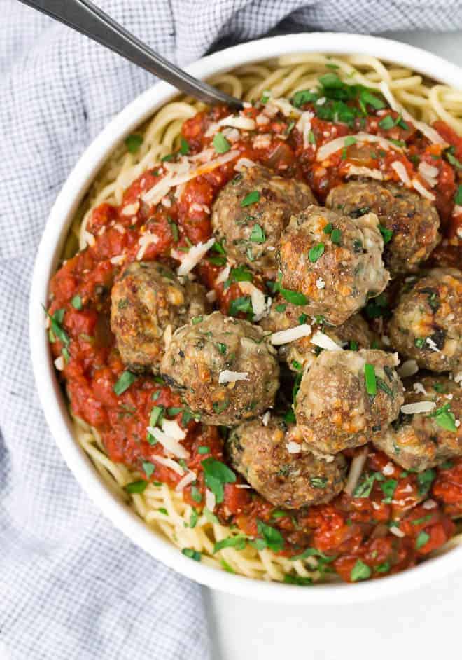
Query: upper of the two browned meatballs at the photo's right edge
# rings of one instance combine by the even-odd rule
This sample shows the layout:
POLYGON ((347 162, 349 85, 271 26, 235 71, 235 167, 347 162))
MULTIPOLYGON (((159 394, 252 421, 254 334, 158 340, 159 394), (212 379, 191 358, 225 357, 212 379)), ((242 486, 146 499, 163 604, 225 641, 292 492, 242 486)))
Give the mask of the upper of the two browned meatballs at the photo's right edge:
POLYGON ((393 347, 430 371, 462 365, 462 273, 435 268, 408 283, 388 324, 393 347))

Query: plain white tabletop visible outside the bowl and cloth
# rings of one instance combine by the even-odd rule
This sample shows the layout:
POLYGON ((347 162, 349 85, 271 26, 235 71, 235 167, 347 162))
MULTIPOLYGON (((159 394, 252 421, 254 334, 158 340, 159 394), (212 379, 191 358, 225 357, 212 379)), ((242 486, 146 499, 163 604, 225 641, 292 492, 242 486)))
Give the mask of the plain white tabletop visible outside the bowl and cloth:
MULTIPOLYGON (((462 32, 384 36, 462 66, 462 32)), ((443 660, 449 653, 460 657, 456 648, 461 636, 462 568, 430 586, 365 605, 257 603, 205 587, 204 598, 214 660, 443 660)))

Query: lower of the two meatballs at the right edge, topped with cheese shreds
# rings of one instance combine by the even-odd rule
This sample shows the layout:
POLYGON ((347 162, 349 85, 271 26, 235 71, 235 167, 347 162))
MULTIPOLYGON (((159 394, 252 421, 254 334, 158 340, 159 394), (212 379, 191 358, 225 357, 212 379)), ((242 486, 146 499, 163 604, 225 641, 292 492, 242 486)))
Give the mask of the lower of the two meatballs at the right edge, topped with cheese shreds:
MULTIPOLYGON (((462 390, 444 376, 414 380, 405 394, 405 404, 431 401, 433 410, 401 413, 386 433, 374 436, 375 446, 405 469, 422 472, 448 458, 462 456, 462 390)), ((406 410, 406 408, 405 408, 406 410)))

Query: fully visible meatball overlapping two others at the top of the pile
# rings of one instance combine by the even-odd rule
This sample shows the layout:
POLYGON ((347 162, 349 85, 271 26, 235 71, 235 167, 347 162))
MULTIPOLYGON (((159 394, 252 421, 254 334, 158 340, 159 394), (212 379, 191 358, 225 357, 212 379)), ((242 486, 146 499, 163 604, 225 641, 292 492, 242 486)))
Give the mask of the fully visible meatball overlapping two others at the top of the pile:
POLYGON ((310 206, 290 223, 279 246, 280 285, 297 292, 301 311, 341 325, 386 287, 377 216, 356 220, 310 206))

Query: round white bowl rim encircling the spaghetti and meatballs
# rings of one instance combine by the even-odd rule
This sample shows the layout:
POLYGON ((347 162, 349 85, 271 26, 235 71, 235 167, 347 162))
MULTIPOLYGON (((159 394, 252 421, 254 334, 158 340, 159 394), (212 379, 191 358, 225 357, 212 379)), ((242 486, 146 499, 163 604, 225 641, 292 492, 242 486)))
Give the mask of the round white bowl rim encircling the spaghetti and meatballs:
MULTIPOLYGON (((453 87, 459 87, 462 70, 436 55, 404 43, 360 34, 308 33, 274 36, 242 43, 214 55, 203 57, 187 67, 197 78, 228 71, 241 64, 265 60, 287 53, 332 53, 374 55, 426 74, 453 87)), ((55 272, 66 234, 80 201, 99 168, 114 147, 127 135, 169 102, 177 91, 158 83, 141 94, 118 114, 83 153, 59 193, 38 247, 32 277, 29 322, 30 343, 38 396, 56 443, 87 495, 116 527, 132 542, 170 568, 206 584, 239 596, 287 603, 357 603, 411 589, 462 566, 462 547, 430 559, 416 568, 360 584, 319 584, 311 588, 276 582, 263 582, 209 568, 183 556, 165 537, 149 529, 125 504, 120 502, 99 478, 92 462, 73 438, 66 401, 53 366, 48 339, 43 327, 43 308, 50 277, 55 272)))

